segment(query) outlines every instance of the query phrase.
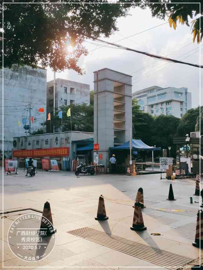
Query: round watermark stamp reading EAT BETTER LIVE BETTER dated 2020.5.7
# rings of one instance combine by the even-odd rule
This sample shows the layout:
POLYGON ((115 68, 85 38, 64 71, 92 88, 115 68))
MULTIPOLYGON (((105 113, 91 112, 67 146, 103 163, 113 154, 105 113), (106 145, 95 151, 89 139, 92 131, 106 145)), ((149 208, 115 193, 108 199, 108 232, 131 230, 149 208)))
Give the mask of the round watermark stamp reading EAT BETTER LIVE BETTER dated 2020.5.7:
POLYGON ((51 222, 41 214, 28 213, 16 218, 8 230, 8 245, 21 260, 36 262, 46 258, 56 243, 51 222))

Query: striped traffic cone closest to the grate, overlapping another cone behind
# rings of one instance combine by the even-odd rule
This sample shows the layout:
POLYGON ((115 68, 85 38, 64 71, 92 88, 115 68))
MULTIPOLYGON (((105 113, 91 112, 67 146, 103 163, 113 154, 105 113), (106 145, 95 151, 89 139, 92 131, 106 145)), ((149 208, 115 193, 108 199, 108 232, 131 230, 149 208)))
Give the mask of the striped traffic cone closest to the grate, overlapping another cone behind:
POLYGON ((135 202, 135 210, 133 216, 133 225, 131 230, 133 231, 144 231, 147 227, 144 226, 144 221, 142 217, 141 203, 139 201, 135 202))

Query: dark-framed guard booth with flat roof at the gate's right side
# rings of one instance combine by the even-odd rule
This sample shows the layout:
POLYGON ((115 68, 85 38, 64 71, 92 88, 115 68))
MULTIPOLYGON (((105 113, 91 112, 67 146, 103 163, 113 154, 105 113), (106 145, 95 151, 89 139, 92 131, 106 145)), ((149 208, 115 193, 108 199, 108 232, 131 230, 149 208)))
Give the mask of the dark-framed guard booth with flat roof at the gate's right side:
POLYGON ((175 137, 173 144, 176 144, 177 169, 193 175, 203 171, 203 156, 200 155, 203 151, 203 138, 200 138, 199 132, 191 132, 190 137, 175 137))

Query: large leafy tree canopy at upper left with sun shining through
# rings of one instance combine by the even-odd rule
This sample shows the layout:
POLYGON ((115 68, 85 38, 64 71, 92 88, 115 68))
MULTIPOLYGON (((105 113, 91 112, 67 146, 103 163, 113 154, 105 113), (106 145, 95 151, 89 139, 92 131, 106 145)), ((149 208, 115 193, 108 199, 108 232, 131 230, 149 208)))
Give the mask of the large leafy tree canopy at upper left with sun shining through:
MULTIPOLYGON (((57 4, 50 0, 8 2, 0 5, 4 67, 40 64, 55 71, 73 69, 79 74, 83 74, 83 70, 77 61, 87 54, 82 45, 84 39, 110 36, 117 30, 117 18, 126 16, 130 7, 125 3, 109 4, 105 0, 93 1, 91 5, 88 1, 66 3, 65 0, 57 4), (74 47, 73 52, 67 50, 70 45, 74 47)), ((2 50, 0 52, 2 67, 2 50)))

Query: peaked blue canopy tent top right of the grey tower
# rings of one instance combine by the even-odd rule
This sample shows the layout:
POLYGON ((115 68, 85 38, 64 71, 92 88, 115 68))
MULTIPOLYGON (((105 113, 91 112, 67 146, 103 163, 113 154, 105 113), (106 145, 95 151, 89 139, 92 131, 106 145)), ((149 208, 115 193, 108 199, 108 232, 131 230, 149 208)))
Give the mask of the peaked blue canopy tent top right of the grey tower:
MULTIPOLYGON (((132 144, 132 149, 133 150, 146 150, 146 151, 156 151, 156 150, 161 150, 161 147, 153 147, 153 146, 148 146, 141 140, 131 140, 132 144)), ((125 144, 115 146, 115 147, 110 147, 111 150, 122 150, 122 149, 130 149, 130 141, 126 142, 125 144)))

